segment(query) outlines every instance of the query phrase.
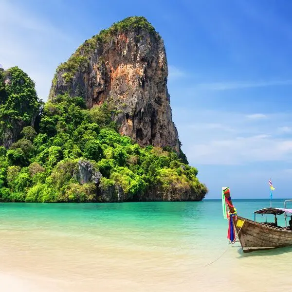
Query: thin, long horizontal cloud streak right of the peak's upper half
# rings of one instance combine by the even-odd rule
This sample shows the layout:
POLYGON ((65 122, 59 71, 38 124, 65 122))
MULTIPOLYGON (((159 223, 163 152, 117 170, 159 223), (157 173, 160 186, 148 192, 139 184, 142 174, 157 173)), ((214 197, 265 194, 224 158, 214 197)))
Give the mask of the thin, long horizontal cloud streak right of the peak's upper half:
POLYGON ((281 85, 292 85, 292 79, 270 80, 270 81, 222 81, 222 82, 199 83, 195 85, 195 88, 200 89, 200 90, 225 91, 225 90, 281 86, 281 85))

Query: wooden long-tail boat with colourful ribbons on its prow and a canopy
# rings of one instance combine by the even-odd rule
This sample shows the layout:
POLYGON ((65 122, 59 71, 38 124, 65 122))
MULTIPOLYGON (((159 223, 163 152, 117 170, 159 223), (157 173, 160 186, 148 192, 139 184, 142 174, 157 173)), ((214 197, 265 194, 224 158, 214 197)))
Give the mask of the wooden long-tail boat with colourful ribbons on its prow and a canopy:
POLYGON ((223 216, 229 221, 227 236, 229 243, 236 242, 238 238, 244 253, 292 246, 292 209, 286 208, 286 201, 284 203, 285 208, 270 207, 255 211, 254 220, 251 220, 237 215, 237 209, 230 197, 229 187, 222 187, 223 216), (265 214, 266 221, 257 222, 256 214, 265 214), (267 222, 267 214, 274 215, 274 222, 267 222), (276 216, 282 214, 285 217, 285 227, 277 224, 276 216), (289 226, 287 226, 287 214, 291 216, 289 226))

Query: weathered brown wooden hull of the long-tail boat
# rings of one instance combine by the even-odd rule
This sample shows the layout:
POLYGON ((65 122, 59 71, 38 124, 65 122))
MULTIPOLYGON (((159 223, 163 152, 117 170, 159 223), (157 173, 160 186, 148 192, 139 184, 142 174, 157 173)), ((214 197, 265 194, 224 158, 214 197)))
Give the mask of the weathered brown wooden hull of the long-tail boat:
POLYGON ((269 226, 243 217, 234 221, 244 253, 292 246, 292 231, 269 226))

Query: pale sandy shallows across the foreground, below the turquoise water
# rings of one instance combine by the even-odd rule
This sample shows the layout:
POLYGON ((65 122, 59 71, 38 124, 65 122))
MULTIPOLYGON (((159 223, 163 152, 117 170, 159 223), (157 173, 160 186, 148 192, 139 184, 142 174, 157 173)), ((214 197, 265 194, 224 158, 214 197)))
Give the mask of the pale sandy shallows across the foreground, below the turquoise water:
POLYGON ((0 230, 0 292, 291 290, 292 249, 239 251, 238 244, 219 247, 216 238, 190 253, 164 242, 125 244, 121 236, 5 229, 0 230))

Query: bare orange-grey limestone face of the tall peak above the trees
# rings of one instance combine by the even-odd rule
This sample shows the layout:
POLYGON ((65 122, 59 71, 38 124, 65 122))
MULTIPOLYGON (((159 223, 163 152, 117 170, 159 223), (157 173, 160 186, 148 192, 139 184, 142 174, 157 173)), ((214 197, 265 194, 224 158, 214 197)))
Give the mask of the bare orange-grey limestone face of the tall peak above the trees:
POLYGON ((180 151, 167 91, 167 60, 162 38, 145 18, 126 18, 81 45, 61 64, 49 100, 69 92, 88 108, 107 102, 119 132, 141 146, 180 151))

